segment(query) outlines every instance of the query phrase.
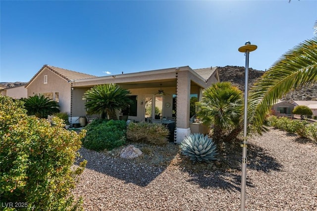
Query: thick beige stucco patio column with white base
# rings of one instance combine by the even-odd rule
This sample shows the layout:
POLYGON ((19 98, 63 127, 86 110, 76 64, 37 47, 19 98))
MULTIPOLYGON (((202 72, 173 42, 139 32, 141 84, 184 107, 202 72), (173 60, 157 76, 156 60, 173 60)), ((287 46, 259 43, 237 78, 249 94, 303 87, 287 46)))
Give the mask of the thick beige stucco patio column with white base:
POLYGON ((180 143, 185 136, 190 135, 190 84, 188 72, 180 71, 177 78, 176 143, 180 143))

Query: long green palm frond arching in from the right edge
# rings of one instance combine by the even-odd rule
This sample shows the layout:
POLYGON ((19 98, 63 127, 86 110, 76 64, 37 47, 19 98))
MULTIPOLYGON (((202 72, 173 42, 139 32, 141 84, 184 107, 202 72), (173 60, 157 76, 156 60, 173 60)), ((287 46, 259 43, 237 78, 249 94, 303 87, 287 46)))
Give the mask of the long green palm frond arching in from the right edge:
MULTIPOLYGON (((315 24, 316 28, 317 22, 315 24)), ((291 90, 317 81, 317 38, 288 51, 250 90, 248 123, 261 133, 264 117, 278 99, 291 90)), ((240 121, 240 125, 243 124, 240 121)))

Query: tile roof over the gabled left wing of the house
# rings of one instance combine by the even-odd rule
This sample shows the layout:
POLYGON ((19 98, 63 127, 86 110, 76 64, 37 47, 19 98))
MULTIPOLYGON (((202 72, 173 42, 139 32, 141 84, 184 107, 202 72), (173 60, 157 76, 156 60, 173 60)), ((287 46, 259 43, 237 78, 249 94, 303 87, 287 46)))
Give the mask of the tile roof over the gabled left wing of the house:
POLYGON ((67 70, 59 67, 54 67, 45 64, 34 76, 33 78, 25 85, 27 87, 34 79, 35 77, 45 68, 47 67, 49 70, 51 70, 53 73, 56 75, 62 77, 66 81, 71 81, 71 80, 77 80, 77 79, 86 79, 86 78, 97 78, 97 76, 94 75, 89 75, 86 73, 81 73, 81 72, 76 72, 72 70, 67 70))

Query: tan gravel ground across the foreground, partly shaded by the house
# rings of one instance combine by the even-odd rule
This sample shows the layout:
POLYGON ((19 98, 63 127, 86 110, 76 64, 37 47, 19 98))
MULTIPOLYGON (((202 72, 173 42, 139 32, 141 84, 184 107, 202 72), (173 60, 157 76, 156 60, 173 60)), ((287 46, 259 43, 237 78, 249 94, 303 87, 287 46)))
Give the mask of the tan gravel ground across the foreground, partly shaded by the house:
MULTIPOLYGON (((317 211, 317 144, 271 129, 248 139, 247 211, 317 211)), ((241 149, 242 151, 242 149, 241 149)), ((241 170, 195 172, 80 150, 87 211, 237 211, 241 170)))

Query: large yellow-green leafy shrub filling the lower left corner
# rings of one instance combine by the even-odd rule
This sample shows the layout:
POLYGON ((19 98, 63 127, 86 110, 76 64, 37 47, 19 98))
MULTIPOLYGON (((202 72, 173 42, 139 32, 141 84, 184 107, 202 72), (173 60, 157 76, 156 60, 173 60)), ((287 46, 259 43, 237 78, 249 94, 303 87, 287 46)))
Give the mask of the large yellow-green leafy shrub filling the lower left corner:
POLYGON ((71 168, 85 131, 65 130, 47 119, 28 116, 19 101, 0 97, 0 194, 1 204, 23 202, 21 210, 76 210, 71 189, 85 162, 71 168))

